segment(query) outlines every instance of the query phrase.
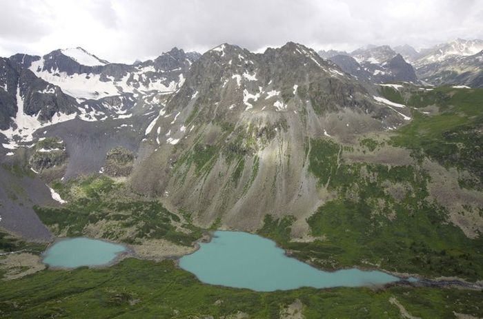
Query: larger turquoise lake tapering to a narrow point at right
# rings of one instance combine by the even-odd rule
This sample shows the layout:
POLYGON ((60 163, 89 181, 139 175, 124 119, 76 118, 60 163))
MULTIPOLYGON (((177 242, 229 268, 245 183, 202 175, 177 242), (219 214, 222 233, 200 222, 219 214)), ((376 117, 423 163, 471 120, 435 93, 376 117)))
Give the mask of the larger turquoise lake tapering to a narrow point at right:
POLYGON ((210 243, 179 260, 179 267, 211 285, 255 291, 299 287, 361 287, 400 280, 382 271, 321 271, 289 258, 275 242, 240 231, 215 231, 210 243))

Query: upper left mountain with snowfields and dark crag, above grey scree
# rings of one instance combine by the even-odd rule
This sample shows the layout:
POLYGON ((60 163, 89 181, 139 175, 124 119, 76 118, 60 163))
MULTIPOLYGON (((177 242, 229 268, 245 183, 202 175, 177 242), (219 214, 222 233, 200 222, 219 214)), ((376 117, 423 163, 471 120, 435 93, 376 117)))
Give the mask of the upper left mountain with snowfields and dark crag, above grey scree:
POLYGON ((74 48, 2 59, 0 99, 5 106, 0 109, 0 132, 9 140, 5 145, 15 148, 32 141, 39 127, 76 117, 106 121, 152 112, 183 84, 184 74, 198 57, 196 52, 173 48, 154 60, 126 65, 74 48))

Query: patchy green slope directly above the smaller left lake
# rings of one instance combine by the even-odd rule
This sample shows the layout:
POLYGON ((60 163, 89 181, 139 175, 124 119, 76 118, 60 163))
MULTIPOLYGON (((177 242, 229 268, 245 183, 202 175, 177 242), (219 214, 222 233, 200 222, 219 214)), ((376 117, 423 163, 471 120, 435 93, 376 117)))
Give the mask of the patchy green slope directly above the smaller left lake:
POLYGON ((140 238, 164 238, 190 246, 201 237, 201 229, 182 223, 179 216, 157 200, 128 196, 124 185, 105 176, 52 186, 68 199, 68 204, 34 209, 42 223, 55 229, 57 234, 83 236, 89 225, 103 225, 103 238, 124 243, 137 243, 140 238), (178 231, 175 224, 182 225, 187 232, 178 231))

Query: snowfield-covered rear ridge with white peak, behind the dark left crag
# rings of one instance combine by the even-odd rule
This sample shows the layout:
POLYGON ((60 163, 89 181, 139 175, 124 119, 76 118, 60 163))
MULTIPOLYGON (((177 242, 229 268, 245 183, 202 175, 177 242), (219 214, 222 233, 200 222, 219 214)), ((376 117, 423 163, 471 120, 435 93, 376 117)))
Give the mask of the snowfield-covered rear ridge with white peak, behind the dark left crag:
POLYGON ((183 74, 197 56, 195 52, 186 54, 183 50, 173 48, 154 61, 126 65, 107 63, 77 48, 55 50, 42 57, 16 54, 10 59, 29 68, 42 79, 59 85, 82 102, 128 93, 146 94, 152 90, 173 92, 183 84, 183 74), (66 55, 66 52, 70 55, 66 55))

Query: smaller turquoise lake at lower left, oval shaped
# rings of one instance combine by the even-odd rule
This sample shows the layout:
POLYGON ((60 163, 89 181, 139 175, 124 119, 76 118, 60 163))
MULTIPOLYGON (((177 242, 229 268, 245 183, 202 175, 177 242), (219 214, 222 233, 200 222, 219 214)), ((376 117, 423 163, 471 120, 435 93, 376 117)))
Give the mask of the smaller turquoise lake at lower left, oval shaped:
POLYGON ((115 260, 126 251, 123 245, 107 243, 90 238, 69 238, 52 245, 43 254, 43 263, 52 267, 76 268, 81 266, 101 266, 115 260))

